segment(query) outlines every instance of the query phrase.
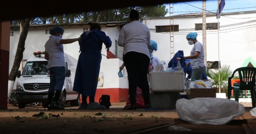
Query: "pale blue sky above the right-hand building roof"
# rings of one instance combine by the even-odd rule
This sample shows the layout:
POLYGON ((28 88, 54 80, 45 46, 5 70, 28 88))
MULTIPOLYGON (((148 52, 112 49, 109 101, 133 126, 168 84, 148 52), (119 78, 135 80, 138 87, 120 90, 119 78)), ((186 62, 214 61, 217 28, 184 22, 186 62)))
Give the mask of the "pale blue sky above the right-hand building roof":
MULTIPOLYGON (((256 11, 256 0, 225 0, 225 6, 221 13, 237 12, 237 11, 256 11)), ((202 0, 164 4, 166 8, 171 9, 171 14, 168 12, 166 16, 189 14, 202 12, 202 0), (173 7, 173 8, 170 8, 173 7), (173 14, 172 14, 173 12, 173 14)), ((207 12, 217 12, 218 0, 206 0, 207 12)))

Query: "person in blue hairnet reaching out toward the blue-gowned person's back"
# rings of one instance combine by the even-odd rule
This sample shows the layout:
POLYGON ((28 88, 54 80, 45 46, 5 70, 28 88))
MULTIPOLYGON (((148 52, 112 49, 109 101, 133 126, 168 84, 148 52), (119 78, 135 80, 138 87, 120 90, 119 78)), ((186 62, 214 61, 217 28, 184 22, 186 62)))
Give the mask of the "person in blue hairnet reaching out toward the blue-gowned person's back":
POLYGON ((64 29, 55 26, 50 29, 49 40, 45 43, 45 59, 48 60, 47 68, 50 71, 50 85, 48 90, 48 110, 64 109, 59 104, 59 97, 65 80, 65 58, 63 44, 69 44, 82 40, 81 37, 62 39, 64 29))

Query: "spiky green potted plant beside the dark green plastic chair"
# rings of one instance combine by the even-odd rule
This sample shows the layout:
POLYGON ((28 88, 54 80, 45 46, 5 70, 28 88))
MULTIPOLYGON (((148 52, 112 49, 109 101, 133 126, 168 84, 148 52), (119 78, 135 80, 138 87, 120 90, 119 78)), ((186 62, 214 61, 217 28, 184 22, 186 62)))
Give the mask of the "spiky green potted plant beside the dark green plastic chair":
POLYGON ((233 74, 230 66, 221 66, 217 71, 207 70, 207 77, 211 78, 212 86, 216 88, 219 92, 219 87, 221 87, 221 92, 227 93, 228 77, 233 74))

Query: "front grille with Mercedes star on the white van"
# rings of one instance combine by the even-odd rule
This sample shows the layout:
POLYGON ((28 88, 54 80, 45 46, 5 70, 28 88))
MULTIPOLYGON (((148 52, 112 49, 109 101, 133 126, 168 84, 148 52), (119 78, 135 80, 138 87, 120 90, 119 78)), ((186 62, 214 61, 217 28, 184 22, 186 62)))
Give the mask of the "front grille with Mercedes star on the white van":
POLYGON ((49 83, 27 83, 23 84, 25 90, 41 91, 49 88, 49 83))

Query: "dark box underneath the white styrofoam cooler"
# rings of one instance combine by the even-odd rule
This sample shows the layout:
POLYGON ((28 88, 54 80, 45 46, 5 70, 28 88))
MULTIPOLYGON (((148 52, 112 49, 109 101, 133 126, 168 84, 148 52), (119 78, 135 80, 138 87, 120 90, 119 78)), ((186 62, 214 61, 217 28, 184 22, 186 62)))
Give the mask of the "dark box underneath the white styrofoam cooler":
POLYGON ((151 108, 176 108, 176 102, 180 99, 180 93, 150 93, 151 108))

